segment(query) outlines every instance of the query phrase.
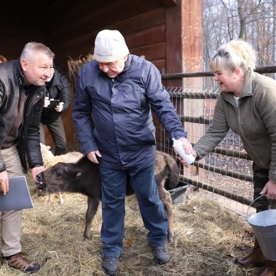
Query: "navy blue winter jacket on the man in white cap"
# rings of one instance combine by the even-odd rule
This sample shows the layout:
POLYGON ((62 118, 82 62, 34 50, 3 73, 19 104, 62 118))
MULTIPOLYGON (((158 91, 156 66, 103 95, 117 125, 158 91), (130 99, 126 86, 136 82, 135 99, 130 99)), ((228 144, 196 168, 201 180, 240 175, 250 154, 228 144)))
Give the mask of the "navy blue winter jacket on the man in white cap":
POLYGON ((156 156, 151 110, 169 138, 187 137, 183 125, 151 62, 129 54, 125 69, 115 79, 88 62, 76 79, 73 119, 86 155, 100 151, 100 166, 125 169, 156 156), (93 121, 93 123, 91 123, 93 121))

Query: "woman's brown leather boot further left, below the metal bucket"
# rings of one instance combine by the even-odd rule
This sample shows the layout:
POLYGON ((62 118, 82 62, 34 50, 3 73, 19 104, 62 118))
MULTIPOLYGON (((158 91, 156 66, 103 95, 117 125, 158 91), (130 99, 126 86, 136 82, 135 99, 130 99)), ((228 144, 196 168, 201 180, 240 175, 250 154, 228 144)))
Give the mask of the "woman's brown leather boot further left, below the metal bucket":
POLYGON ((235 260, 235 263, 241 266, 264 266, 265 262, 266 262, 266 259, 265 259, 265 256, 263 255, 263 251, 260 248, 257 238, 255 238, 253 251, 246 257, 236 258, 235 260))

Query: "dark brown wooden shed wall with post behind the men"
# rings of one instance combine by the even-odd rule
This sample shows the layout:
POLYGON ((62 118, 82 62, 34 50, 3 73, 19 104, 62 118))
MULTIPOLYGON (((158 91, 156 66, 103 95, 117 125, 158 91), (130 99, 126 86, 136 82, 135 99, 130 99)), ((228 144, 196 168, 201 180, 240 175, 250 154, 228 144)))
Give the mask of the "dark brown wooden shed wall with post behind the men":
MULTIPOLYGON (((2 1, 0 54, 16 59, 25 43, 42 42, 55 53, 55 64, 67 76, 68 59, 79 59, 93 52, 96 35, 103 29, 120 30, 130 52, 153 62, 161 74, 182 72, 184 2, 192 6, 201 3, 201 0, 2 1)), ((163 84, 178 86, 180 82, 164 80, 163 84)), ((72 96, 73 91, 74 86, 72 96)), ((74 142, 71 109, 62 119, 68 142, 74 142)), ((53 146, 47 130, 46 135, 47 144, 53 146)))

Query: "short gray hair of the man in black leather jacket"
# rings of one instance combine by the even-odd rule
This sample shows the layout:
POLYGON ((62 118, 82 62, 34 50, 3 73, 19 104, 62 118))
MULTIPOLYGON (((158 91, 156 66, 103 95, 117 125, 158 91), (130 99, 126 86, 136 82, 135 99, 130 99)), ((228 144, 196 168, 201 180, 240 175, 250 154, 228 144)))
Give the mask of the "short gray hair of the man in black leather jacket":
POLYGON ((20 61, 23 59, 35 59, 36 55, 41 52, 50 57, 50 59, 54 59, 54 53, 49 47, 38 42, 28 42, 21 52, 20 61))

